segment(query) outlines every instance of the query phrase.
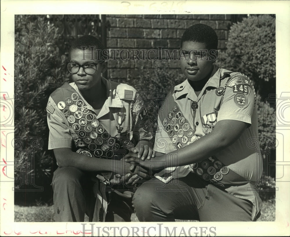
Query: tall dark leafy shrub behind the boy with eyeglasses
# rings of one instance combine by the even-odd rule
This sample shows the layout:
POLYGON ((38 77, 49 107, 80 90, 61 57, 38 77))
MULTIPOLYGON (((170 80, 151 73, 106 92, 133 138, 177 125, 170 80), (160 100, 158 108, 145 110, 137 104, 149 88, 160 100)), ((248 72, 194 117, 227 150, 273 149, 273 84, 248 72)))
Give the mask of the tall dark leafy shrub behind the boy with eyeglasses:
MULTIPOLYGON (((26 167, 32 167, 33 161, 21 149, 15 149, 14 160, 19 165, 14 167, 14 176, 20 182, 15 192, 16 202, 34 201, 51 196, 52 156, 48 154, 48 127, 46 122, 46 104, 52 91, 68 81, 66 74, 66 58, 59 53, 57 47, 57 28, 49 25, 44 15, 15 15, 15 61, 14 61, 14 92, 23 99, 22 113, 16 113, 15 126, 23 120, 23 126, 18 127, 15 137, 23 142, 23 149, 32 149, 31 140, 35 138, 39 146, 34 148, 34 170, 26 172, 26 167), (29 179, 33 177, 37 186, 44 187, 44 192, 21 191, 29 190, 29 179)), ((35 145, 35 144, 34 144, 35 145)), ((33 167, 32 167, 33 168, 33 167)), ((46 200, 47 201, 47 200, 46 200)))

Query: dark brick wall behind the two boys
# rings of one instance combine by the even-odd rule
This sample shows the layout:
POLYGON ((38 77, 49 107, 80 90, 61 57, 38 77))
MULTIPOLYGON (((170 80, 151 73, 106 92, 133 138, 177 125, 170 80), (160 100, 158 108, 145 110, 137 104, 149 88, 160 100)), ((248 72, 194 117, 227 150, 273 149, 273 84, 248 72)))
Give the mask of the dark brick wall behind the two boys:
MULTIPOLYGON (((143 49, 148 52, 156 47, 163 47, 172 52, 180 48, 180 38, 186 28, 203 23, 211 26, 217 33, 218 49, 226 48, 228 30, 231 26, 231 15, 106 15, 110 26, 107 28, 107 48, 128 50, 143 49)), ((151 54, 154 58, 154 54, 151 54)), ((164 55, 164 53, 162 53, 164 55)), ((120 56, 116 52, 117 58, 120 56)), ((121 57, 127 59, 123 51, 121 57)), ((139 55, 141 58, 141 55, 139 55)), ((153 71, 157 61, 108 61, 108 78, 126 82, 140 74, 140 70, 153 71)), ((174 75, 181 73, 178 61, 167 61, 166 65, 174 75)))

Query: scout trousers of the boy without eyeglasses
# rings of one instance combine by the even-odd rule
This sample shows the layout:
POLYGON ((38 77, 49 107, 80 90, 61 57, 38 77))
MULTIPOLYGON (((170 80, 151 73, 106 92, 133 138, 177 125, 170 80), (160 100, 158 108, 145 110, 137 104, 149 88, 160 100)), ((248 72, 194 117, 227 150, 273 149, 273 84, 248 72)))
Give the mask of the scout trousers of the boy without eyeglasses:
POLYGON ((196 174, 144 182, 136 190, 133 205, 139 221, 251 221, 251 202, 206 183, 196 174))

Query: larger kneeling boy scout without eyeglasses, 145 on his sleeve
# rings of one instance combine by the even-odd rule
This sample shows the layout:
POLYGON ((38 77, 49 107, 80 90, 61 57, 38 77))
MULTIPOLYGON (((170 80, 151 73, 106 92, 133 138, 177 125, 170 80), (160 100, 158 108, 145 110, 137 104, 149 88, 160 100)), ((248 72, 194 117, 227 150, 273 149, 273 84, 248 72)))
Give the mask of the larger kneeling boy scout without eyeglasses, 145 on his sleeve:
MULTIPOLYGON (((214 64, 218 37, 211 27, 193 25, 181 42, 186 80, 168 93, 160 109, 155 158, 139 162, 155 169, 157 179, 137 189, 137 217, 254 221, 262 203, 255 191, 261 155, 248 144, 258 137, 253 85, 247 76, 214 64)), ((127 161, 138 160, 134 156, 128 154, 127 161)))

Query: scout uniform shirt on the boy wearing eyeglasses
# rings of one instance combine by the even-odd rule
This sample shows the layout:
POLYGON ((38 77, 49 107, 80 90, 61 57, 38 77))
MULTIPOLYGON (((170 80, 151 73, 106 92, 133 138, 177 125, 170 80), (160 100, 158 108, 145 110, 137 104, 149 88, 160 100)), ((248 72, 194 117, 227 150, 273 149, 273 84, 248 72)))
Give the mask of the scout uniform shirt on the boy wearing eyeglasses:
MULTIPOLYGON (((123 143, 127 151, 136 146, 139 140, 149 141, 151 139, 152 133, 149 131, 148 125, 143 124, 142 121, 140 123, 140 118, 141 120, 144 118, 143 112, 145 113, 145 111, 141 109, 143 108, 142 99, 138 98, 136 90, 127 84, 110 82, 103 77, 102 83, 106 85, 107 99, 99 114, 82 97, 74 82, 65 83, 50 95, 46 107, 50 131, 48 149, 68 147, 82 155, 111 158, 112 153, 115 151, 118 153, 118 150, 113 149, 117 145, 117 142, 113 145, 114 140, 112 146, 108 143, 105 144, 105 141, 110 141, 110 137, 116 139, 124 137, 125 140, 120 142, 120 146, 123 143), (75 111, 76 109, 77 111, 75 111), (78 117, 79 114, 80 117, 78 117), (88 126, 90 130, 86 131, 86 124, 90 124, 88 126), (100 145, 96 149, 99 141, 100 145), (124 145, 123 141, 127 142, 128 146, 124 145), (90 146, 93 149, 88 149, 90 146)), ((124 150, 126 151, 126 149, 124 150)), ((120 154, 125 155, 126 153, 121 152, 118 155, 120 156, 120 154)), ((106 186, 110 175, 109 172, 102 173, 102 176, 98 175, 97 178, 102 181, 98 185, 106 186)), ((97 196, 93 220, 103 221, 105 217, 98 216, 99 210, 103 209, 103 212, 106 213, 108 204, 106 195, 99 192, 103 189, 96 185, 97 183, 93 187, 95 196, 97 196)))

